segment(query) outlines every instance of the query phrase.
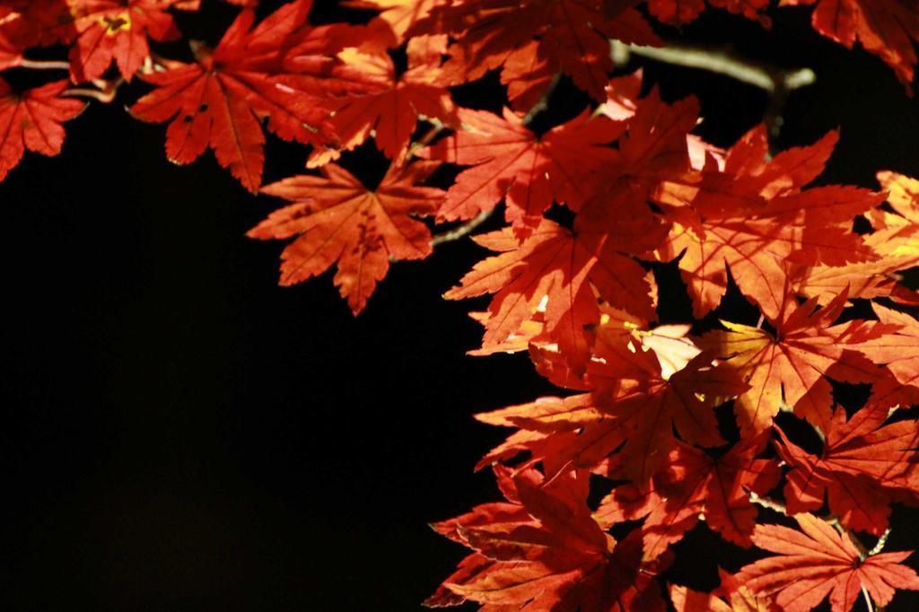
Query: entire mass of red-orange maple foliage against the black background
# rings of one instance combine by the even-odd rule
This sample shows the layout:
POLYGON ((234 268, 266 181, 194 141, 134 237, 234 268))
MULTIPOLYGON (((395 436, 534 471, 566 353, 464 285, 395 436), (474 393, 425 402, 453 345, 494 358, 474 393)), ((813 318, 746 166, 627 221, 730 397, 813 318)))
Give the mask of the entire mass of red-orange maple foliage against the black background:
MULTIPOLYGON (((130 113, 168 123, 169 160, 210 149, 244 188, 288 202, 249 232, 290 241, 280 282, 335 266, 356 314, 392 262, 432 253, 432 225, 468 231, 503 206, 503 229, 474 237, 494 255, 445 297, 489 296, 472 352, 528 351, 566 391, 477 415, 513 429, 478 466, 505 501, 437 523, 472 552, 429 606, 794 611, 829 596, 845 612, 863 592, 885 606, 919 589, 908 552, 879 552, 891 509, 919 503, 919 295, 900 276, 919 265, 919 181, 813 187, 838 133, 772 154, 759 126, 721 149, 693 133, 695 99, 613 75, 610 40, 660 45, 654 21, 708 6, 768 27, 767 0, 350 0, 374 17, 325 25, 310 0, 260 20, 257 2, 232 4, 221 40, 179 61, 153 47, 181 39, 176 14, 196 0, 0 1, 0 70, 68 49, 65 79, 0 79, 0 179, 25 149, 60 152, 91 85, 140 81, 130 113), (500 113, 455 101, 489 73, 506 88, 500 113), (591 101, 535 129, 562 79, 591 101), (307 174, 263 186, 266 131, 310 147, 307 174), (388 160, 376 186, 347 167, 365 145, 388 160), (444 188, 441 167, 455 174, 444 188), (659 321, 668 269, 691 320, 659 321), (729 295, 752 317, 719 320, 729 295), (837 405, 834 383, 868 399, 837 405), (665 585, 673 545, 703 524, 776 554, 711 593, 665 585)), ((909 88, 915 6, 779 4, 816 4, 814 28, 860 40, 909 88)))

